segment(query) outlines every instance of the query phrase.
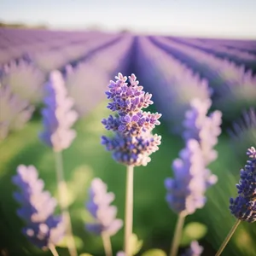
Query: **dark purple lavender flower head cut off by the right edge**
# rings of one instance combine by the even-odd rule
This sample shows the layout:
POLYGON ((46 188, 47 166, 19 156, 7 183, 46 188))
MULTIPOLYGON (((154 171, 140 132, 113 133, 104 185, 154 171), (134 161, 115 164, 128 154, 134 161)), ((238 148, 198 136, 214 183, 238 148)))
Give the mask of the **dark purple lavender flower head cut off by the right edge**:
POLYGON ((236 184, 238 196, 230 198, 230 212, 238 219, 256 221, 256 149, 247 149, 247 164, 241 169, 240 181, 236 184))

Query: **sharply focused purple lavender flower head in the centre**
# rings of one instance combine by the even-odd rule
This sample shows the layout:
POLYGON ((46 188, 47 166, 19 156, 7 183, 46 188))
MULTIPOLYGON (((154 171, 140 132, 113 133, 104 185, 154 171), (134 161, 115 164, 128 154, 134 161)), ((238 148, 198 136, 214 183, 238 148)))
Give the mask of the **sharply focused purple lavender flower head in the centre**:
POLYGON ((127 166, 147 166, 149 155, 158 150, 161 137, 153 135, 155 125, 160 125, 161 114, 143 112, 153 104, 151 94, 143 91, 138 85, 136 76, 131 74, 130 84, 125 83, 126 77, 118 74, 116 82, 110 81, 106 92, 108 108, 116 111, 117 115, 110 115, 103 119, 102 124, 107 130, 112 130, 114 137, 102 137, 102 144, 107 150, 113 151, 113 159, 127 166))

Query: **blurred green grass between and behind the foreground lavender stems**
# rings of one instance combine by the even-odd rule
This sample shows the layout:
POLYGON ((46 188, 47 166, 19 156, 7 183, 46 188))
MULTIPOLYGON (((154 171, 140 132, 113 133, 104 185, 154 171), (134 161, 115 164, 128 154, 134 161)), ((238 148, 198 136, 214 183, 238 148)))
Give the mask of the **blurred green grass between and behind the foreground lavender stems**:
MULTIPOLYGON (((83 241, 79 253, 102 254, 100 237, 92 236, 84 230, 84 222, 90 221, 90 215, 84 209, 87 191, 93 177, 101 177, 108 183, 109 191, 116 195, 114 205, 119 209, 118 217, 124 218, 125 205, 125 166, 115 163, 111 154, 100 143, 102 134, 106 134, 101 120, 108 116, 106 102, 102 102, 85 119, 75 125, 78 136, 72 146, 63 152, 65 177, 70 189, 70 211, 75 236, 83 241)), ((34 119, 22 131, 11 134, 0 144, 0 248, 1 242, 12 252, 10 255, 50 255, 33 247, 21 235, 22 221, 15 211, 18 205, 12 198, 15 186, 11 177, 20 164, 34 165, 45 181, 46 189, 56 195, 55 160, 50 148, 38 140, 38 132, 42 129, 40 120, 34 119), (1 241, 2 239, 2 241, 1 241)), ((134 183, 134 232, 143 239, 143 251, 152 247, 169 249, 176 215, 167 207, 164 188, 166 177, 172 176, 172 160, 177 158, 183 148, 180 137, 167 133, 165 125, 155 129, 162 135, 160 150, 152 155, 152 161, 146 167, 137 167, 134 183)), ((220 245, 235 219, 230 216, 229 198, 236 195, 235 184, 239 179, 241 163, 234 159, 229 140, 222 136, 218 143, 218 160, 212 164, 211 170, 218 175, 218 183, 207 192, 207 205, 186 219, 207 224, 207 250, 212 253, 220 245)), ((250 255, 256 251, 253 243, 256 239, 255 224, 243 224, 223 255, 250 255), (238 237, 243 237, 239 240, 238 237)), ((118 251, 123 243, 123 230, 113 236, 113 250, 118 251)), ((65 256, 67 250, 59 249, 65 256)), ((211 253, 207 255, 211 255, 211 253)))

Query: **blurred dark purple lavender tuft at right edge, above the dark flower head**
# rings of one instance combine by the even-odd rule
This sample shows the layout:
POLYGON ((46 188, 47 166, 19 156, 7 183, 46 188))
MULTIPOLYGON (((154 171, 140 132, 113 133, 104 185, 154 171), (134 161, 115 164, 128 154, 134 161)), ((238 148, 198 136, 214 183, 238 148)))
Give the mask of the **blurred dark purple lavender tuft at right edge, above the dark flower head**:
POLYGON ((241 119, 237 119, 232 128, 228 130, 231 145, 236 154, 244 156, 247 145, 256 145, 256 108, 249 108, 242 113, 241 119))

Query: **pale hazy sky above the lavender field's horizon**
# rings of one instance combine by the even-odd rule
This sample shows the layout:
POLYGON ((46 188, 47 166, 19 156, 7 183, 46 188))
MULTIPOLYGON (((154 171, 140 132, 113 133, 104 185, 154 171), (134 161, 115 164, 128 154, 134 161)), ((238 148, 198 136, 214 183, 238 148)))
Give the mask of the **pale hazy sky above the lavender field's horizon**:
POLYGON ((256 39, 256 0, 0 0, 0 21, 256 39))

